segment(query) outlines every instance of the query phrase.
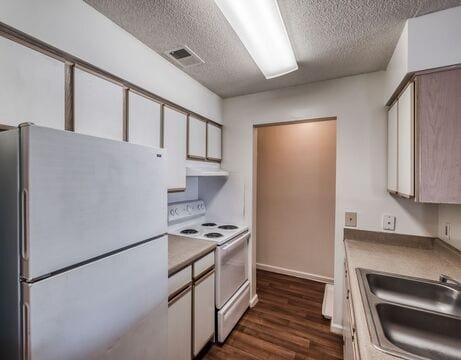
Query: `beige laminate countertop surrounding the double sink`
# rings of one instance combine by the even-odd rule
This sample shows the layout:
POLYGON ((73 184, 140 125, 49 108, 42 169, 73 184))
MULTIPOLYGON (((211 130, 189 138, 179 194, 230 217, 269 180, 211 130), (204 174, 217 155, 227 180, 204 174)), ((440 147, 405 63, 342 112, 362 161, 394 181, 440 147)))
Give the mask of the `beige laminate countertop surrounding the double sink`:
POLYGON ((438 242, 432 249, 387 245, 362 240, 345 240, 352 303, 361 359, 395 360, 376 349, 370 339, 356 268, 438 280, 440 274, 461 279, 461 256, 438 242))

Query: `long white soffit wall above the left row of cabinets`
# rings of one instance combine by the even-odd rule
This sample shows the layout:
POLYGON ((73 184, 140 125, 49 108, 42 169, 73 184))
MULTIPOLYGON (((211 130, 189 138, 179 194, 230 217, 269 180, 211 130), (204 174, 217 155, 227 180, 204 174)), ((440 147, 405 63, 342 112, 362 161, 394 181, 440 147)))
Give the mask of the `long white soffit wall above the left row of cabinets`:
POLYGON ((222 121, 222 100, 81 0, 0 0, 0 21, 222 121))

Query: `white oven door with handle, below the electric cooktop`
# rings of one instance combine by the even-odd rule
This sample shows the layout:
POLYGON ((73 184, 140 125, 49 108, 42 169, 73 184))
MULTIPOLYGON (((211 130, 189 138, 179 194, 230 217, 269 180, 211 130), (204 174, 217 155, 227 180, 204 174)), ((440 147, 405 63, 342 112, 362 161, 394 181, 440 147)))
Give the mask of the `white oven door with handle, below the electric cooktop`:
POLYGON ((221 309, 248 280, 248 239, 244 233, 216 250, 216 307, 221 309))

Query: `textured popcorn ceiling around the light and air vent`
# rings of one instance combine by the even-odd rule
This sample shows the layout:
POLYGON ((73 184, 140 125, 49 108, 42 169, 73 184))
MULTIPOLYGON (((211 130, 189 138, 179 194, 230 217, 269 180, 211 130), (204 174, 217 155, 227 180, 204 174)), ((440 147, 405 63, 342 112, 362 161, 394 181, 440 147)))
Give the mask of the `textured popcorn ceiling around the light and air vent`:
POLYGON ((299 69, 266 80, 213 0, 84 1, 159 54, 187 45, 205 63, 180 68, 224 98, 385 69, 406 19, 461 5, 278 0, 299 69))

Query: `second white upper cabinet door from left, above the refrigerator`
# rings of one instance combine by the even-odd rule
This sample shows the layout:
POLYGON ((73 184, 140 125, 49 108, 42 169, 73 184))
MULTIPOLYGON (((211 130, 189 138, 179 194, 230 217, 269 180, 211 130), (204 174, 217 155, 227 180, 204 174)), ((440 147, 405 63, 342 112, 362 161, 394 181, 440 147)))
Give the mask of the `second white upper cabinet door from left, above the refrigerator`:
POLYGON ((123 89, 100 77, 75 69, 75 131, 123 140, 123 89))

